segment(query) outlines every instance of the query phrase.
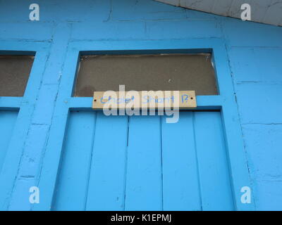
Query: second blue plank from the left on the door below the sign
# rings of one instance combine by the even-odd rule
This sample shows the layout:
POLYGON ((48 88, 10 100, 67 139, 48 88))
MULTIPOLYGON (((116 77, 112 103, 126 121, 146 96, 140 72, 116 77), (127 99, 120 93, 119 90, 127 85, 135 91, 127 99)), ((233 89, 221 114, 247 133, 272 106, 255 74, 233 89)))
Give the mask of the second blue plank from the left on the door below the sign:
POLYGON ((86 210, 124 210, 128 117, 97 113, 86 210))

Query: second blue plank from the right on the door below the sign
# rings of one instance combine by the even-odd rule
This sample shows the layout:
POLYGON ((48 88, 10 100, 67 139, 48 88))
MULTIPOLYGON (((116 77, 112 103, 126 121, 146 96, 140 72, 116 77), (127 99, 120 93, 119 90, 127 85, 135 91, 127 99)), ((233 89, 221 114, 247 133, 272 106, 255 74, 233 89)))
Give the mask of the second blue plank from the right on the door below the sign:
POLYGON ((192 112, 161 121, 164 210, 201 210, 192 112))

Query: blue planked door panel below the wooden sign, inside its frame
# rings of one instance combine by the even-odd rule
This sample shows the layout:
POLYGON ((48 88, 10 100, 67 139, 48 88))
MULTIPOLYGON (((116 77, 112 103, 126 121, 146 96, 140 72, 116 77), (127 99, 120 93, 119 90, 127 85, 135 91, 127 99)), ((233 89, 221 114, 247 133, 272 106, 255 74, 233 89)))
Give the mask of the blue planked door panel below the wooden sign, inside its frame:
POLYGON ((53 210, 234 210, 220 112, 71 112, 53 210))

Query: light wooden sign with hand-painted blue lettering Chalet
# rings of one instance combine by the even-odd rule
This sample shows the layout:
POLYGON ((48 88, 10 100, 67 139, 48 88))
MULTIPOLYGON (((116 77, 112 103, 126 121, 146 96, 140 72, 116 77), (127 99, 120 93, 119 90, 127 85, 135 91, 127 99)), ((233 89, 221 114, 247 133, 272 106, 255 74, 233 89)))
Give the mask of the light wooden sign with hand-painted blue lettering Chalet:
POLYGON ((195 91, 94 91, 92 108, 196 108, 195 91))

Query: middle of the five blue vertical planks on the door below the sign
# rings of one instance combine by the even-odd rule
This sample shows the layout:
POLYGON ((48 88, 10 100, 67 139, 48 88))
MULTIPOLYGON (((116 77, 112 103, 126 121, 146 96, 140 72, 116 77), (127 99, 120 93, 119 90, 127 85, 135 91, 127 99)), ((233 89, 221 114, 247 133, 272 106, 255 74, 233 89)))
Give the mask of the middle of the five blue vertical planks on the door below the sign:
POLYGON ((125 210, 162 210, 161 118, 129 120, 125 210))

